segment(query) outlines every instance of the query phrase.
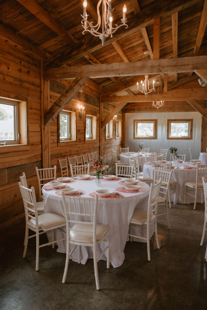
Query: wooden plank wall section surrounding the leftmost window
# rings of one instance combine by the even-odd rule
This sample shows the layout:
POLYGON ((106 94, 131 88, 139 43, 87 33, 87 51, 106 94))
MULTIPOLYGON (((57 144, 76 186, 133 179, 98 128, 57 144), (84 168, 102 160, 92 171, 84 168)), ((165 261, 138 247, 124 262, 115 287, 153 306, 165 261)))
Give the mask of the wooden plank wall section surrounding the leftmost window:
POLYGON ((0 146, 0 229, 24 217, 18 186, 26 173, 38 191, 35 166, 42 165, 40 61, 0 40, 0 96, 28 104, 29 145, 0 146))

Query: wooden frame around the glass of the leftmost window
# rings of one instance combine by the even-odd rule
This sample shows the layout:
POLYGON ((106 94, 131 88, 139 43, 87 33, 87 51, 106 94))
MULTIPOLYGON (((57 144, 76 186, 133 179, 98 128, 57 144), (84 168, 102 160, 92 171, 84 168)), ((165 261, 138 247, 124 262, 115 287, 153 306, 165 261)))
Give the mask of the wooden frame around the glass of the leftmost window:
POLYGON ((25 147, 29 145, 29 128, 28 128, 28 102, 16 100, 12 98, 0 97, 0 103, 15 106, 14 111, 14 129, 15 140, 1 140, 0 147, 6 147, 9 151, 9 146, 13 145, 25 147))

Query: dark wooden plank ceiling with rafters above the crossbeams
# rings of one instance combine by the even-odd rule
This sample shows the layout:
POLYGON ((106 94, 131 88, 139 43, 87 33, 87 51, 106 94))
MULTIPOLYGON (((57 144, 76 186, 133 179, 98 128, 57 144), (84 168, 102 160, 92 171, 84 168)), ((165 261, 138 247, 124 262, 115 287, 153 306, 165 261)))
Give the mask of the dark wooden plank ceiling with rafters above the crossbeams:
MULTIPOLYGON (((95 23, 98 0, 87 2, 88 20, 95 23)), ((124 3, 128 29, 119 29, 102 47, 99 38, 82 34, 83 0, 1 0, 0 40, 16 42, 44 58, 45 71, 62 66, 206 55, 207 0, 113 0, 114 24, 120 24, 124 3)), ((166 93, 186 83, 196 83, 198 76, 193 71, 154 74, 150 83, 155 78, 155 93, 158 86, 160 93, 166 93)), ((92 80, 101 86, 105 96, 127 95, 130 102, 129 95, 137 94, 139 78, 136 74, 123 74, 92 80)))

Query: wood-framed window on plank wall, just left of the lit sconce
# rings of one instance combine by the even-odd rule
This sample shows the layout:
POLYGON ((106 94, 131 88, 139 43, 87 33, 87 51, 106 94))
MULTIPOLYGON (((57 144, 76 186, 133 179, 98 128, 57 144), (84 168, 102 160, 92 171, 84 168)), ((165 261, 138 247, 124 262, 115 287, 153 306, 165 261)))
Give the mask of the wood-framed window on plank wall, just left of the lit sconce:
POLYGON ((76 139, 75 112, 62 110, 59 114, 59 142, 76 139))

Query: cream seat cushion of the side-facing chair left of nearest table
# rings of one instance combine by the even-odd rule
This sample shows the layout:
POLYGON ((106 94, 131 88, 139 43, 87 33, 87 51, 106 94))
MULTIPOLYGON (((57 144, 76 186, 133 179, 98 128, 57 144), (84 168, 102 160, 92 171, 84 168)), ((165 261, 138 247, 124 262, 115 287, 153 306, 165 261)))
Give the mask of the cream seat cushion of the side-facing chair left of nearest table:
MULTIPOLYGON (((65 221, 65 218, 59 214, 44 213, 44 214, 38 215, 38 224, 39 224, 40 229, 41 228, 46 229, 46 228, 58 226, 61 224, 66 225, 66 221, 65 221)), ((27 222, 27 225, 35 229, 35 220, 30 219, 29 222, 27 222)))

